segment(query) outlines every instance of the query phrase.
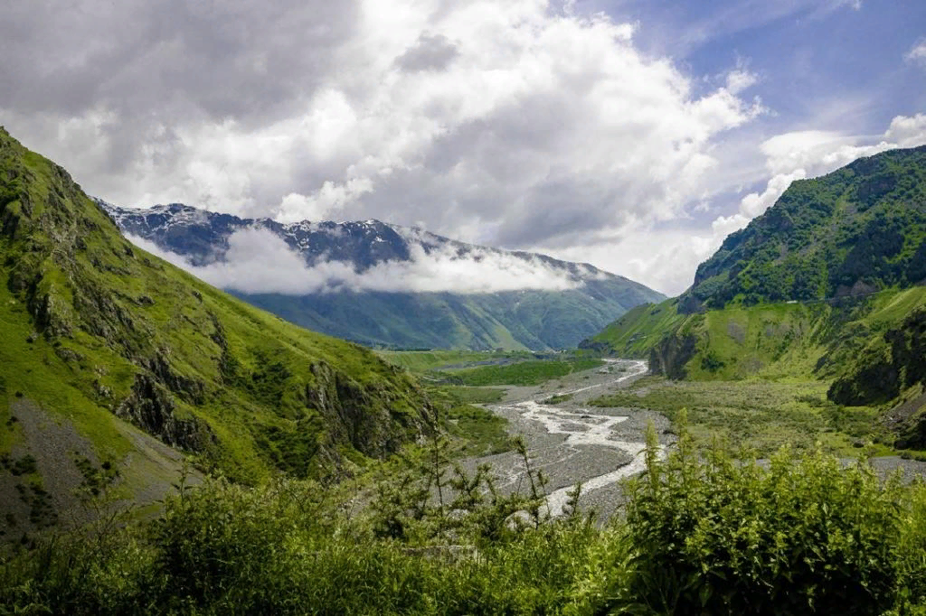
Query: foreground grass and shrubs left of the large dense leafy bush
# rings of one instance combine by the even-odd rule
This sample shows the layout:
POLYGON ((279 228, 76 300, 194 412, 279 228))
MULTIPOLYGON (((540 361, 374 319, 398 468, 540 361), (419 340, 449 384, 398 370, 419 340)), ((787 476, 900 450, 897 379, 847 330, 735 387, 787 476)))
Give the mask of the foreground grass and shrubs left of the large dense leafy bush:
POLYGON ((412 480, 398 482, 404 493, 394 481, 379 488, 371 519, 313 482, 181 482, 154 521, 123 528, 113 518, 0 556, 0 613, 520 614, 579 605, 574 589, 609 553, 593 552, 594 525, 533 515, 536 490, 483 494, 487 474, 443 474, 444 446, 432 445, 412 480), (422 481, 458 491, 442 505, 422 481), (508 524, 521 508, 527 521, 508 524), (402 532, 390 517, 405 521, 402 532))

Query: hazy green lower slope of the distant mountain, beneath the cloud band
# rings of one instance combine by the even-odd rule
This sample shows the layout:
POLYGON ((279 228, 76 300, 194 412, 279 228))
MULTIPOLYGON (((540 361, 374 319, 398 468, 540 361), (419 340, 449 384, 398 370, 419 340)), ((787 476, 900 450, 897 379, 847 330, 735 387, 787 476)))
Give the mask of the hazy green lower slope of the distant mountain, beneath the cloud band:
POLYGON ((632 281, 609 279, 563 291, 236 295, 296 325, 364 344, 482 351, 573 348, 614 315, 665 298, 632 281))

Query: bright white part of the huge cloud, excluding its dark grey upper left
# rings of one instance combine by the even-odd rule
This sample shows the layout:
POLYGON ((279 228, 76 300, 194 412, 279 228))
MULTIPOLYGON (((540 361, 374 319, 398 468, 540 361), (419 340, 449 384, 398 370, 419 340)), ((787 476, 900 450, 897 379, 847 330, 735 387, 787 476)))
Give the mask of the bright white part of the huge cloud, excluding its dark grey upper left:
POLYGON ((364 0, 288 114, 156 123, 108 174, 87 139, 49 135, 49 151, 114 203, 424 222, 512 247, 678 216, 711 185, 724 133, 762 113, 755 77, 735 68, 704 92, 642 53, 633 24, 554 8, 364 0))

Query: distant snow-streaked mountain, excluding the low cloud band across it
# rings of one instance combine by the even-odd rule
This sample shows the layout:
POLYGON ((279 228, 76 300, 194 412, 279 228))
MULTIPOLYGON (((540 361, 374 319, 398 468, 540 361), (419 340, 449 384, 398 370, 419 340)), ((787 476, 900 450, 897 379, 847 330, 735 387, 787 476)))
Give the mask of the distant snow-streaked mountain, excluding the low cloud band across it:
POLYGON ((364 290, 349 286, 289 293, 229 289, 246 302, 297 325, 364 344, 474 350, 572 348, 633 306, 665 298, 644 285, 592 265, 476 246, 378 220, 284 225, 267 218, 239 218, 179 203, 150 209, 99 203, 127 234, 152 241, 160 250, 181 256, 193 267, 222 262, 235 232, 260 228, 284 240, 307 267, 334 263, 363 275, 378 266, 408 264, 434 255, 476 262, 499 258, 525 269, 541 268, 574 283, 570 289, 495 292, 364 290))

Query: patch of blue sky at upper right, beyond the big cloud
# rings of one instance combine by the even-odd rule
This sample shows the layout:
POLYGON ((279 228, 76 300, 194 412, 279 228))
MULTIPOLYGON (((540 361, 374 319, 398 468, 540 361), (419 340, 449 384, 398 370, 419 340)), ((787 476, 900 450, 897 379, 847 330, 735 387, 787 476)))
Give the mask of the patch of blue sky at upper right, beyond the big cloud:
POLYGON ((926 79, 904 61, 926 36, 926 3, 661 0, 600 9, 639 22, 645 49, 695 75, 744 62, 777 114, 763 119, 770 130, 880 134, 898 113, 926 106, 926 79))

